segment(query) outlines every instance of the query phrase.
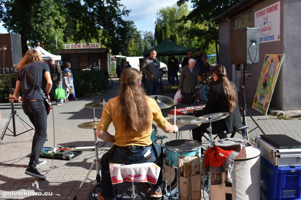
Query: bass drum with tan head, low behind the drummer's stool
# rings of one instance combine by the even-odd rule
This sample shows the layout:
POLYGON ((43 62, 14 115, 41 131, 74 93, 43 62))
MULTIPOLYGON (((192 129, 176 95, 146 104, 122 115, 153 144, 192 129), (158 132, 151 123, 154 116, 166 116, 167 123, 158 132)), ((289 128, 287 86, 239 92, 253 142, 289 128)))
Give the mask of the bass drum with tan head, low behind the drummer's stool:
MULTIPOLYGON (((169 178, 169 166, 164 165, 163 164, 163 170, 162 170, 162 181, 163 181, 163 185, 165 182, 165 179, 167 179, 167 190, 170 190, 170 186, 171 189, 175 189, 175 187, 177 186, 177 168, 170 168, 170 177, 171 177, 171 184, 170 184, 170 178, 169 178)), ((144 188, 149 189, 151 187, 150 183, 141 183, 144 188)), ((161 188, 162 192, 164 191, 164 188, 161 188)))

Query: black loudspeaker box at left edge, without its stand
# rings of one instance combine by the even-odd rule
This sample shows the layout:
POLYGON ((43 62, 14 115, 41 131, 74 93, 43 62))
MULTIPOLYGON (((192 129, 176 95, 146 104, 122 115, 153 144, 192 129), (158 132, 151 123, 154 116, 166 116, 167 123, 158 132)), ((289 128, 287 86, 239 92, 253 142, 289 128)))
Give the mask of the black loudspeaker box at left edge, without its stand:
POLYGON ((0 68, 16 67, 21 60, 21 35, 0 34, 0 68))

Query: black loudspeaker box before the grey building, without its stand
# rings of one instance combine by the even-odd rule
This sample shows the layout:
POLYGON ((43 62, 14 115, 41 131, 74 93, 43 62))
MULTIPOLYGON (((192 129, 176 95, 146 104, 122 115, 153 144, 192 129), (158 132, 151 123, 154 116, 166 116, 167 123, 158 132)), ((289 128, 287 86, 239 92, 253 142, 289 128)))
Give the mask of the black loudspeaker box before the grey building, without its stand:
POLYGON ((230 63, 259 63, 259 28, 230 30, 230 63))

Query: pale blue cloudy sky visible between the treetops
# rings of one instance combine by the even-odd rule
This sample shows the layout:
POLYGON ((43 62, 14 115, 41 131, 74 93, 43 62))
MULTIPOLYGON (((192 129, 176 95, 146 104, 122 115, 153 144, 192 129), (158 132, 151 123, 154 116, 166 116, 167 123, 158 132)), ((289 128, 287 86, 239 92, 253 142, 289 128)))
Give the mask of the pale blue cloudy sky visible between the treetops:
MULTIPOLYGON (((128 17, 123 17, 124 20, 133 20, 135 26, 140 31, 152 31, 154 33, 157 11, 167 6, 175 5, 177 1, 178 0, 121 0, 120 3, 126 6, 126 9, 131 10, 128 17)), ((188 3, 188 5, 190 5, 189 10, 192 10, 191 3, 188 3)), ((8 33, 2 26, 2 23, 0 23, 0 33, 8 33)))

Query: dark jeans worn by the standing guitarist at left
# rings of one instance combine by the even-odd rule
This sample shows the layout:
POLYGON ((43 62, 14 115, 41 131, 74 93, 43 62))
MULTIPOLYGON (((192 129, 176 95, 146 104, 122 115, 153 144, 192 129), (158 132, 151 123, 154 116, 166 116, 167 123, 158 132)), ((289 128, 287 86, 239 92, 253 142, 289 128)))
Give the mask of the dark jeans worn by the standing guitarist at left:
POLYGON ((28 164, 29 168, 35 168, 47 138, 47 112, 43 100, 23 102, 22 108, 36 129, 28 164))

